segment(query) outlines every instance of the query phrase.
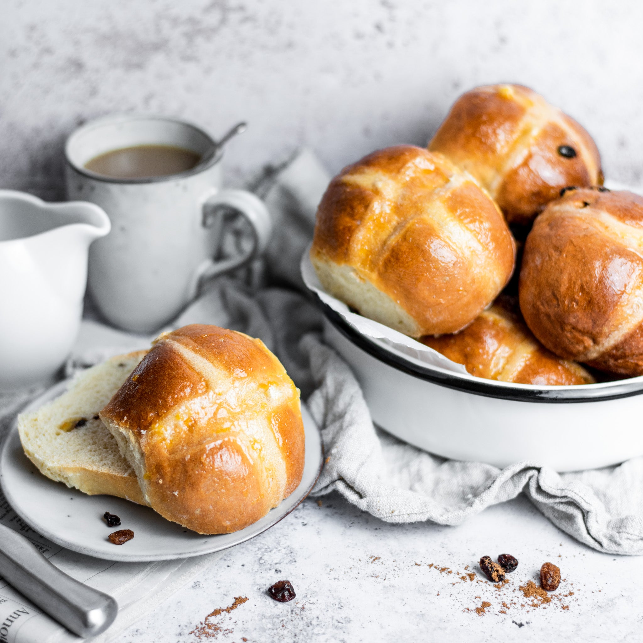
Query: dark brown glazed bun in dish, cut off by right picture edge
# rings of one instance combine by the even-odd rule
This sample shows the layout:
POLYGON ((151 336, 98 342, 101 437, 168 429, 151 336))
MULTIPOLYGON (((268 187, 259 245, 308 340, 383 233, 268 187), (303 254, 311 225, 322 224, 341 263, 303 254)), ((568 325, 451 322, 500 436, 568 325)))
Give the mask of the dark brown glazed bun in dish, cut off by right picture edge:
POLYGON ((643 197, 566 190, 534 222, 519 289, 525 321, 548 349, 643 374, 643 197))

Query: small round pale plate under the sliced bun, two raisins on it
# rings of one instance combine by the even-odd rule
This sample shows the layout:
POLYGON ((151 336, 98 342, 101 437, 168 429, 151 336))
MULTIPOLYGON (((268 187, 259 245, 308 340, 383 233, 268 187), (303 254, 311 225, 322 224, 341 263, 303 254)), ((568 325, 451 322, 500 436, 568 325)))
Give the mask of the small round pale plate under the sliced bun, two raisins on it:
MULTIPOLYGON (((60 382, 35 399, 25 411, 36 410, 61 395, 68 382, 60 382)), ((258 536, 289 514, 309 494, 321 471, 321 436, 305 405, 305 462, 300 485, 278 507, 253 525, 233 534, 202 536, 172 523, 149 507, 113 496, 87 496, 43 476, 24 455, 17 424, 0 455, 0 484, 15 512, 54 543, 80 554, 112 561, 157 561, 210 554, 258 536), (113 545, 107 535, 105 511, 121 519, 118 529, 131 529, 134 538, 113 545)))

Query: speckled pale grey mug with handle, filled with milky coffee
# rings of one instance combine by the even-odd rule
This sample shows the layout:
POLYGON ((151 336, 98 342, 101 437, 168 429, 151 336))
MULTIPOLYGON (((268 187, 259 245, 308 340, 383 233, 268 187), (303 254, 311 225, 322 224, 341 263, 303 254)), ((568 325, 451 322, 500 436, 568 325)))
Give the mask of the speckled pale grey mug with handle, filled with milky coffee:
POLYGON ((202 280, 242 266, 266 248, 266 206, 245 190, 222 189, 222 149, 195 125, 161 116, 108 116, 73 132, 65 156, 68 198, 92 201, 111 219, 111 234, 89 253, 89 291, 105 317, 123 329, 156 331, 194 298, 202 280), (136 145, 180 147, 201 160, 180 174, 135 179, 85 167, 100 154, 136 145), (221 206, 248 219, 254 242, 217 261, 221 206))

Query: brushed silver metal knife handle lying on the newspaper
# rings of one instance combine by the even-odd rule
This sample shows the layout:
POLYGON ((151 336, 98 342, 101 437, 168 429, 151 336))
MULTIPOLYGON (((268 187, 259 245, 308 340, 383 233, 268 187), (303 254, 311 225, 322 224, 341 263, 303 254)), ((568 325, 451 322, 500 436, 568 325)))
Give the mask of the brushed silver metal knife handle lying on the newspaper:
POLYGON ((61 572, 28 539, 5 525, 0 525, 0 575, 79 637, 105 631, 118 613, 113 597, 61 572))

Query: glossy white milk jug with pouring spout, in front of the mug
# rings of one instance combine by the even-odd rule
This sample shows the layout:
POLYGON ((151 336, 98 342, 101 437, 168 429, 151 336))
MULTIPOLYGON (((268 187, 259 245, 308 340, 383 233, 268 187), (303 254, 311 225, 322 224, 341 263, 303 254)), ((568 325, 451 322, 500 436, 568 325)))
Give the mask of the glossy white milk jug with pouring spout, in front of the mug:
POLYGON ((93 203, 0 190, 0 392, 62 366, 80 327, 89 244, 108 232, 93 203))

